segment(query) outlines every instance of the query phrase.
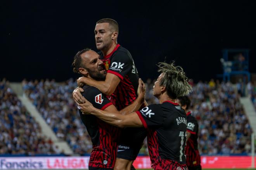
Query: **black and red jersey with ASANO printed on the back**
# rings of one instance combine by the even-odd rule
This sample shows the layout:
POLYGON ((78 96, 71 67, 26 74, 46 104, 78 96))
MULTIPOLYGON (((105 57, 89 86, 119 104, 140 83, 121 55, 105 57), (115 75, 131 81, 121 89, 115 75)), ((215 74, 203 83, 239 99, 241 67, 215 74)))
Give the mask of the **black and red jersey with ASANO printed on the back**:
POLYGON ((147 129, 151 167, 161 170, 186 169, 185 111, 177 103, 167 100, 163 104, 144 107, 136 113, 147 129))

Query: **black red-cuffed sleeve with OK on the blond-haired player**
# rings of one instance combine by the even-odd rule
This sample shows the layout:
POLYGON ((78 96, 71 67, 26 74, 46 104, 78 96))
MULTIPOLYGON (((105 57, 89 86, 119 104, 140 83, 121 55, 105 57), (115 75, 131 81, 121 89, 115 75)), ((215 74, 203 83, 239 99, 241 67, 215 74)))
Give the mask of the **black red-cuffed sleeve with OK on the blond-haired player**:
POLYGON ((163 110, 159 104, 151 104, 136 112, 144 128, 163 124, 163 110))

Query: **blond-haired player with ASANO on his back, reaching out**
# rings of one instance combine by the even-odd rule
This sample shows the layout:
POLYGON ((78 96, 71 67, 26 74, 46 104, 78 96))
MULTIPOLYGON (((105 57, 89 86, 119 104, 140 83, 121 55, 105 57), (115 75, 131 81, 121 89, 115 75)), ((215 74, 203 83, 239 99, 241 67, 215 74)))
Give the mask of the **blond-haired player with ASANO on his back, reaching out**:
POLYGON ((84 113, 95 115, 114 126, 144 126, 151 167, 155 170, 186 170, 187 116, 175 99, 188 95, 192 87, 182 68, 173 63, 160 63, 159 72, 161 74, 153 87, 153 95, 159 99, 159 104, 148 105, 127 115, 99 110, 87 100, 80 107, 84 113))

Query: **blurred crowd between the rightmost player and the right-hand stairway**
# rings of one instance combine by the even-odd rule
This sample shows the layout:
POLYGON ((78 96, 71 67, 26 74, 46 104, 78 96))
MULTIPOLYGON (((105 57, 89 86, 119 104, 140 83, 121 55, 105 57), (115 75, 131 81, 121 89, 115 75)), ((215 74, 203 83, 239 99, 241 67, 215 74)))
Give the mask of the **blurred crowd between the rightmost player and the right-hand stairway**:
POLYGON ((251 151, 251 128, 231 83, 211 80, 193 87, 192 113, 199 122, 202 154, 241 154, 251 151))

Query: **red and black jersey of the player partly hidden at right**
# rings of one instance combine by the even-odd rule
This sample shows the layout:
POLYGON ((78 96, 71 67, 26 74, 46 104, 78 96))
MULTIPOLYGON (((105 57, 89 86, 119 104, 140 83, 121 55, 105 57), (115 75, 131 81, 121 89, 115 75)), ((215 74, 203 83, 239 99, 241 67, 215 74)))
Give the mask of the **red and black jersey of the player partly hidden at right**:
POLYGON ((187 132, 189 132, 190 138, 187 141, 187 146, 185 148, 185 155, 187 158, 187 166, 195 167, 200 165, 201 158, 198 151, 198 122, 194 116, 192 116, 191 112, 187 113, 187 132))

